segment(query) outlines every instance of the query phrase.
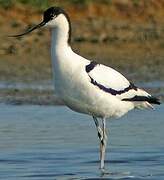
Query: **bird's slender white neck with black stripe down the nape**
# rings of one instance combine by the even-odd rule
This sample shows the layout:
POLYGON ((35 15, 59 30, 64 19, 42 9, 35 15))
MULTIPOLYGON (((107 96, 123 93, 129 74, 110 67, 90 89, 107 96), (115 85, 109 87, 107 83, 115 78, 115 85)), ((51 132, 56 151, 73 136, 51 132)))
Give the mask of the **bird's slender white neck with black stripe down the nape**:
POLYGON ((60 55, 71 49, 71 23, 69 17, 62 14, 58 17, 56 26, 51 30, 52 44, 51 53, 53 55, 60 55))

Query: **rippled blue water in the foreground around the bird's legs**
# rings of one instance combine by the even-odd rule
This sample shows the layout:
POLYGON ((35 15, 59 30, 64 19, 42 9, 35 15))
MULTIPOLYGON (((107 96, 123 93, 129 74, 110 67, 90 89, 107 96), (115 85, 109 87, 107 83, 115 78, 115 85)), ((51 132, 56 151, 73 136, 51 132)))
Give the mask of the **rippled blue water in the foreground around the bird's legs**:
MULTIPOLYGON (((57 106, 0 105, 0 179, 102 179, 89 116, 57 106)), ((110 128, 106 179, 164 179, 164 105, 110 128)))

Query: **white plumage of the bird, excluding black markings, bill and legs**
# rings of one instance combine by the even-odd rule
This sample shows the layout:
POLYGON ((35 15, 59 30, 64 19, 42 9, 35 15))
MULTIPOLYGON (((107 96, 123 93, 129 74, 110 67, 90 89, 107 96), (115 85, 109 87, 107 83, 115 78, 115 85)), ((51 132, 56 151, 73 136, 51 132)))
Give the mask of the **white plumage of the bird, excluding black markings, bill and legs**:
POLYGON ((55 93, 61 101, 74 111, 95 117, 120 117, 135 107, 148 107, 147 102, 122 101, 135 95, 149 96, 145 91, 129 90, 121 95, 111 95, 91 83, 96 82, 115 90, 123 90, 129 81, 120 73, 104 65, 97 65, 86 72, 90 61, 77 55, 68 45, 69 24, 64 15, 59 15, 48 26, 52 28, 51 56, 55 93))

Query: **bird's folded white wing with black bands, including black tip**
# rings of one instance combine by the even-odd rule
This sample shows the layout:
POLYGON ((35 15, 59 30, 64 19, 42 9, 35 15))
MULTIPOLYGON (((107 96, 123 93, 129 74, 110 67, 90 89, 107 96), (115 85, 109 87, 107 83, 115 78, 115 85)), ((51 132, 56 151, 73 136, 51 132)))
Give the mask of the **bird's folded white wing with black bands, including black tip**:
POLYGON ((149 102, 160 104, 158 99, 146 91, 137 88, 116 70, 96 62, 86 65, 86 72, 90 82, 100 90, 116 96, 122 101, 149 102))

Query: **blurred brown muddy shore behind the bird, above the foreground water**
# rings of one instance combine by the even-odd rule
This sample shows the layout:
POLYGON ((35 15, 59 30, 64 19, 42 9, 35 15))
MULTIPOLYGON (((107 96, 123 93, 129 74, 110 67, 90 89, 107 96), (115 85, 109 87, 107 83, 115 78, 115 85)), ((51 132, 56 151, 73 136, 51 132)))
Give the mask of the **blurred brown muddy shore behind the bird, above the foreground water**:
POLYGON ((54 103, 50 31, 7 37, 40 22, 50 6, 61 6, 68 12, 77 53, 117 69, 163 97, 163 0, 0 0, 2 102, 54 103))

